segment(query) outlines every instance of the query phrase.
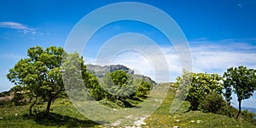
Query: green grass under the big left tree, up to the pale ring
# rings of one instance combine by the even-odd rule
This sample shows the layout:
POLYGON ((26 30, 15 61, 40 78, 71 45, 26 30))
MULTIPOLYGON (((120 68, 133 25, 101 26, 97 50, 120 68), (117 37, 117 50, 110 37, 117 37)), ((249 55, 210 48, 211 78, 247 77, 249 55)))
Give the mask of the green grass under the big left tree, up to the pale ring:
POLYGON ((0 108, 0 127, 99 127, 99 124, 79 113, 71 103, 62 102, 63 99, 54 102, 48 118, 45 118, 42 111, 45 103, 35 107, 41 110, 35 115, 28 113, 29 106, 0 108))

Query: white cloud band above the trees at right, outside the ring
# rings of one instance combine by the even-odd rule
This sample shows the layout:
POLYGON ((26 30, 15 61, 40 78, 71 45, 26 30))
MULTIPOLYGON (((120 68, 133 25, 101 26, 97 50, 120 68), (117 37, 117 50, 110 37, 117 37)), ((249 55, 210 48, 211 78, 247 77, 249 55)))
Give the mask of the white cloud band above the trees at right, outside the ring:
POLYGON ((255 50, 251 44, 232 43, 231 40, 197 43, 191 47, 194 71, 222 74, 229 67, 256 68, 255 50))

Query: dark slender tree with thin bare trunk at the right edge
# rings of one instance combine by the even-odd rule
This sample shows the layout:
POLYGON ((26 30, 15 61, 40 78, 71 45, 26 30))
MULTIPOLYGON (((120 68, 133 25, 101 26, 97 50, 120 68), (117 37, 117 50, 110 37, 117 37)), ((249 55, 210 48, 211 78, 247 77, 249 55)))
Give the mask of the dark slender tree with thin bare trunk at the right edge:
POLYGON ((227 72, 224 73, 224 86, 228 89, 226 94, 230 95, 230 89, 234 89, 237 96, 237 102, 239 106, 236 119, 238 119, 241 113, 241 101, 253 96, 255 90, 256 71, 254 69, 247 69, 247 67, 230 67, 227 72))

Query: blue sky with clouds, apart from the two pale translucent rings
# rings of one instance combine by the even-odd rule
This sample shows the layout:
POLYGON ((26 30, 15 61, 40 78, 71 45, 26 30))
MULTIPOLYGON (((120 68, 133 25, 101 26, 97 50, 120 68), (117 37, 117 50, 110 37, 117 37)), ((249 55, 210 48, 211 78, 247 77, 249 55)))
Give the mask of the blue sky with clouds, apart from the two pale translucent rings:
MULTIPOLYGON (((44 48, 52 45, 64 47, 68 34, 84 15, 117 2, 125 1, 0 1, 0 91, 13 86, 5 75, 17 61, 26 57, 28 48, 36 45, 44 48)), ((176 20, 189 41, 193 71, 222 75, 229 67, 244 65, 256 68, 255 0, 132 2, 153 5, 176 20)), ((172 81, 181 73, 179 58, 168 39, 153 26, 131 20, 113 22, 96 32, 84 49, 85 61, 95 62, 97 51, 104 42, 125 32, 141 33, 154 40, 166 55, 172 81)), ((151 48, 148 46, 147 49, 151 48)), ((122 63, 135 68, 138 73, 155 77, 150 61, 138 53, 121 53, 115 56, 113 63, 122 63)), ((255 104, 256 93, 242 103, 245 107, 253 108, 256 108, 255 104)))

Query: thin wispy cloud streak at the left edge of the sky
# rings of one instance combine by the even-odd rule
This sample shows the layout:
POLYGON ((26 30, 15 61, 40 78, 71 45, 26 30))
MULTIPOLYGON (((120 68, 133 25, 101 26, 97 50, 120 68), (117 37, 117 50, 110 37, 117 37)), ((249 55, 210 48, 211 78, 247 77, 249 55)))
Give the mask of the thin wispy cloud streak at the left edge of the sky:
POLYGON ((24 34, 36 34, 35 29, 32 29, 26 25, 17 23, 17 22, 12 22, 12 21, 6 21, 6 22, 0 22, 0 27, 5 27, 5 28, 10 28, 10 29, 15 29, 23 32, 24 34))

